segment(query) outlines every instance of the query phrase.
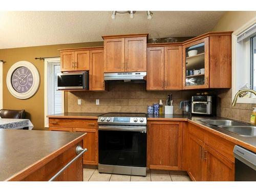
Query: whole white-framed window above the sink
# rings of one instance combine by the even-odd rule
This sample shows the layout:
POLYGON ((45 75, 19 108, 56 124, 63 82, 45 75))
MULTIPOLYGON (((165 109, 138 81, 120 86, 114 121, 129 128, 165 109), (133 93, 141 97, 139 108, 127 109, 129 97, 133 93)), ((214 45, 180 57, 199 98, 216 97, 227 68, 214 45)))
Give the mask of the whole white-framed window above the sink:
MULTIPOLYGON (((256 90, 256 20, 233 33, 232 37, 232 98, 242 89, 256 90)), ((238 103, 256 103, 256 96, 243 93, 238 103)))

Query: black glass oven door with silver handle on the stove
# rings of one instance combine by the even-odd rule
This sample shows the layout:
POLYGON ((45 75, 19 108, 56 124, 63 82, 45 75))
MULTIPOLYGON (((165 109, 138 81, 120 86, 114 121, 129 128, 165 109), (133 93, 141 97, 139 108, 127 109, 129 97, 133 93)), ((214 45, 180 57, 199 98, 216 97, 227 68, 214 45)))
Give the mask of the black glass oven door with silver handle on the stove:
POLYGON ((99 126, 99 164, 146 167, 145 130, 146 126, 99 126))

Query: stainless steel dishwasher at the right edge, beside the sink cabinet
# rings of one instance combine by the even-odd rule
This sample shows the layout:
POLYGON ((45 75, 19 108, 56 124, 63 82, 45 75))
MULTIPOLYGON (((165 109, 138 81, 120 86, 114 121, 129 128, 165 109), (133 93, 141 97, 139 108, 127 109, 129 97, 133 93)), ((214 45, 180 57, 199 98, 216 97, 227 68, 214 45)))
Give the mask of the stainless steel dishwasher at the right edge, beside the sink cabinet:
POLYGON ((256 154, 245 148, 234 146, 235 181, 256 181, 256 154))

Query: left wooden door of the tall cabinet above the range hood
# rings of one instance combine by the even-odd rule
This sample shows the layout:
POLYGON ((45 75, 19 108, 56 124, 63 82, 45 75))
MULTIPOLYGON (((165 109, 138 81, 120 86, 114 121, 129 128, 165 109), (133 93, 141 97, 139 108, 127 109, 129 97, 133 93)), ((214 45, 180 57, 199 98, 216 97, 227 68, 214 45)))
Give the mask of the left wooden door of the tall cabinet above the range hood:
POLYGON ((124 38, 104 39, 104 72, 124 72, 124 38))

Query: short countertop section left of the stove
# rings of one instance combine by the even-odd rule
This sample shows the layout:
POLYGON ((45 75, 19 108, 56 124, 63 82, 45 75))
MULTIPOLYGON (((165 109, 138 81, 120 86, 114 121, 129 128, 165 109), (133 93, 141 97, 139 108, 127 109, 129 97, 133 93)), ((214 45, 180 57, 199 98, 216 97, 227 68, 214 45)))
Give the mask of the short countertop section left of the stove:
POLYGON ((98 119, 99 116, 106 113, 79 113, 79 112, 67 112, 58 113, 54 115, 48 115, 50 118, 78 118, 78 119, 98 119))

